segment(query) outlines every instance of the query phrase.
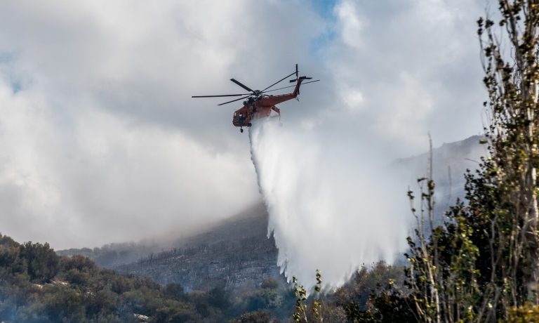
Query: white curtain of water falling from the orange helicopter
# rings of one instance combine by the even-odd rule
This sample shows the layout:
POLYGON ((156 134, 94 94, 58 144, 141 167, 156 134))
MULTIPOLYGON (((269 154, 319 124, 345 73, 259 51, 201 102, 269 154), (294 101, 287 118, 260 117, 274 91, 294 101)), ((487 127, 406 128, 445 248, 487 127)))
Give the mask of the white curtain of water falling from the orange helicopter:
POLYGON ((361 265, 392 262, 408 233, 406 185, 381 150, 361 138, 260 120, 250 131, 260 192, 288 279, 326 288, 361 265))

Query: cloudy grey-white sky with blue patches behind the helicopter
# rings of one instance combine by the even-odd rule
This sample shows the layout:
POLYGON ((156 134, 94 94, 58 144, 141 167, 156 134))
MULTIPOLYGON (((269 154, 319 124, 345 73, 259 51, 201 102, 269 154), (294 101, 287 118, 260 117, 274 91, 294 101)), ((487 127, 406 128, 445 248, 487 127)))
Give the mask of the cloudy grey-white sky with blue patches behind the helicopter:
MULTIPOLYGON (((260 201, 240 105, 321 79, 281 121, 392 158, 481 133, 486 0, 0 3, 0 232, 55 249, 194 228, 260 201)), ((368 158, 368 157, 365 157, 368 158)))

